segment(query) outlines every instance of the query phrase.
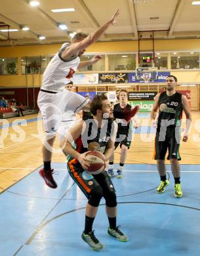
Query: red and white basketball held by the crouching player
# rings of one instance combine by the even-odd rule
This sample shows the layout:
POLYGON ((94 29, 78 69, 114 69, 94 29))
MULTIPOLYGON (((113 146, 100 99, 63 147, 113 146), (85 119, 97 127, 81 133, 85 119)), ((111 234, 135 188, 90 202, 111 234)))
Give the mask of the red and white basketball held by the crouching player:
POLYGON ((96 175, 104 171, 106 167, 106 159, 104 154, 93 150, 86 154, 86 158, 90 161, 90 166, 87 169, 89 173, 96 175))

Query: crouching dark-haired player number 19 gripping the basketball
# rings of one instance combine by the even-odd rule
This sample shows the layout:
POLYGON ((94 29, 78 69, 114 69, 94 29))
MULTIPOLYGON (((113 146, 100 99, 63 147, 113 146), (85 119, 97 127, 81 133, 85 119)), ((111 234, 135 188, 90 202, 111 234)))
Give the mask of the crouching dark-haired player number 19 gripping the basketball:
POLYGON ((112 117, 113 110, 106 95, 96 95, 92 100, 90 111, 93 119, 81 121, 79 125, 70 129, 71 139, 77 144, 76 150, 72 148, 71 139, 68 135, 66 135, 68 139, 63 140, 60 146, 63 148, 66 156, 71 156, 68 159, 68 171, 71 178, 77 183, 89 200, 85 214, 85 230, 81 237, 94 250, 99 250, 104 245, 94 236, 92 224, 102 197, 106 200, 106 213, 109 221, 108 234, 121 242, 127 242, 128 237, 116 226, 117 200, 115 188, 108 173, 102 171, 100 174, 91 175, 85 171, 89 168, 89 161, 85 156, 90 144, 98 142, 98 150, 104 154, 106 161, 110 158, 114 150, 117 125, 108 118, 112 117))

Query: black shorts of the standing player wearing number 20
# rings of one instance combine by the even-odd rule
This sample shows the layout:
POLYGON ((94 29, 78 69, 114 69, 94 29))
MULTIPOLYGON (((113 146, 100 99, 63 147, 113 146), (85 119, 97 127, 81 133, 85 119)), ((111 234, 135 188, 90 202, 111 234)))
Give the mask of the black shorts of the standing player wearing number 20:
POLYGON ((175 136, 174 132, 166 133, 165 140, 161 138, 159 131, 157 131, 155 136, 155 160, 165 160, 165 155, 168 150, 167 160, 172 158, 181 160, 179 154, 180 148, 180 137, 175 136))

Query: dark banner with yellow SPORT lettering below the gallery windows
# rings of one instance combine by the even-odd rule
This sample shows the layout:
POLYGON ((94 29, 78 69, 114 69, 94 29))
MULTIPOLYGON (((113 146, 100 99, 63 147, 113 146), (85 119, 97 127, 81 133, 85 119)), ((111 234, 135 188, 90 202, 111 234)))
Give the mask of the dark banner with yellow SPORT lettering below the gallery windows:
POLYGON ((98 83, 128 83, 128 73, 98 74, 98 83))

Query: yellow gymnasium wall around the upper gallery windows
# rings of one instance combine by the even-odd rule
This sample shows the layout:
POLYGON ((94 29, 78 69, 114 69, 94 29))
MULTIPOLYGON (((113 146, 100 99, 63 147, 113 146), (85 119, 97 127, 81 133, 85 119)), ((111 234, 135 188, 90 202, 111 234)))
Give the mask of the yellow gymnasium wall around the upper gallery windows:
MULTIPOLYGON (((26 99, 24 104, 28 102, 30 106, 35 106, 43 75, 22 75, 21 57, 52 55, 60 46, 54 44, 0 47, 1 58, 18 57, 18 75, 0 75, 0 90, 14 91, 15 98, 22 97, 23 100, 26 99)), ((87 53, 136 53, 137 51, 138 41, 96 42, 87 49, 87 53)), ((152 51, 152 41, 140 41, 140 51, 152 51)), ((155 40, 155 51, 200 51, 200 39, 155 40)), ((171 74, 177 76, 180 83, 200 84, 200 70, 172 70, 171 74)), ((199 102, 197 104, 199 106, 199 102)))

